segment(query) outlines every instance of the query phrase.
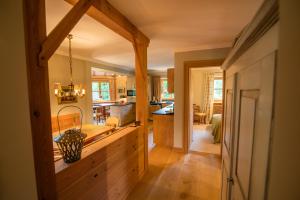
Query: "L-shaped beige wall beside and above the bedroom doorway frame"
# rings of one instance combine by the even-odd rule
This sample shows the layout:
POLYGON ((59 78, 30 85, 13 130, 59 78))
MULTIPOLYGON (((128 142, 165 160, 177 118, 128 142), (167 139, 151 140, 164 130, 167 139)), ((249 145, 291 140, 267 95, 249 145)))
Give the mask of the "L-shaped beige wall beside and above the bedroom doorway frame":
POLYGON ((183 134, 183 88, 184 88, 184 61, 208 60, 225 58, 228 48, 210 49, 201 51, 175 53, 175 119, 174 119, 174 146, 182 147, 183 134))

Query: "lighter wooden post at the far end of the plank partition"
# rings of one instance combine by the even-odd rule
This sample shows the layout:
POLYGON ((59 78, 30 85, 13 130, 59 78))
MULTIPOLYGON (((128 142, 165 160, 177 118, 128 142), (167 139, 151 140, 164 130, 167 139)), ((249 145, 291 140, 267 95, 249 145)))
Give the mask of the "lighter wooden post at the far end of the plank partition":
POLYGON ((147 47, 148 42, 136 40, 135 51, 136 77, 136 120, 141 122, 144 132, 144 172, 148 169, 148 94, 147 94, 147 47))

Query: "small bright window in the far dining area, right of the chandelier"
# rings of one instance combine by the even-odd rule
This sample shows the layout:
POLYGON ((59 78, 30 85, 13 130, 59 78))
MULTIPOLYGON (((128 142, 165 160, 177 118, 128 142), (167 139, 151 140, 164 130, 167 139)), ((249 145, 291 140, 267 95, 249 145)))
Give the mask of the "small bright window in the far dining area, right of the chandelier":
POLYGON ((93 101, 110 101, 109 82, 92 82, 93 101))

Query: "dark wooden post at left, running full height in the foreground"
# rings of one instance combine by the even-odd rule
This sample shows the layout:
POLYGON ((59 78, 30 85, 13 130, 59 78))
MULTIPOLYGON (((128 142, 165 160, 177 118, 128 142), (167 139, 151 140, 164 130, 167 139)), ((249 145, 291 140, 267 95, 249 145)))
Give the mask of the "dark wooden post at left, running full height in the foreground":
POLYGON ((45 1, 27 0, 23 1, 23 6, 28 93, 37 192, 39 199, 52 200, 56 199, 56 187, 51 134, 48 63, 43 62, 42 65, 39 65, 41 44, 46 39, 45 1))

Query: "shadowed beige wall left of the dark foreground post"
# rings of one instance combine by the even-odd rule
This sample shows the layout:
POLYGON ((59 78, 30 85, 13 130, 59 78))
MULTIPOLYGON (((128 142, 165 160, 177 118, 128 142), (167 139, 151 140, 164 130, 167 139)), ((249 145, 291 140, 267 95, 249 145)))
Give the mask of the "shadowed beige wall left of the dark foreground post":
POLYGON ((22 1, 0 1, 0 199, 37 199, 22 1))

